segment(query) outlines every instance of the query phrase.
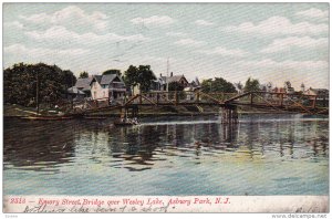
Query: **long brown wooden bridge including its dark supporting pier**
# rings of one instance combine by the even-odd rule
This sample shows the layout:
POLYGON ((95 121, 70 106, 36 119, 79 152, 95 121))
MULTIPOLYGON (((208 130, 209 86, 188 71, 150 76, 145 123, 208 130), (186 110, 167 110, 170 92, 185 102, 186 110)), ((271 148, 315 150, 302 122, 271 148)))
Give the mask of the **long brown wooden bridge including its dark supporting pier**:
MULTIPOLYGON (((218 106, 222 108, 226 122, 237 121, 237 108, 255 107, 282 112, 298 112, 309 115, 329 114, 329 96, 287 94, 271 92, 204 93, 204 92, 151 92, 137 94, 128 100, 112 103, 108 98, 91 103, 77 103, 82 107, 75 114, 86 115, 100 111, 127 109, 138 111, 138 106, 218 106), (84 105, 84 106, 83 106, 84 105)), ((76 107, 77 108, 77 107, 76 107)))

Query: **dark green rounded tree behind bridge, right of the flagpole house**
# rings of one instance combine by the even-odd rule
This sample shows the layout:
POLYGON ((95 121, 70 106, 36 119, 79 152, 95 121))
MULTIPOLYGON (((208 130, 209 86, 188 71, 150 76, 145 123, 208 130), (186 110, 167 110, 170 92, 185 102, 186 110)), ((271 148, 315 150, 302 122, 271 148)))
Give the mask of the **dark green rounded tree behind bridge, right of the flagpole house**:
POLYGON ((222 77, 215 77, 215 80, 204 80, 201 82, 201 91, 203 92, 224 92, 224 93, 236 93, 237 90, 232 85, 232 83, 227 82, 222 77))

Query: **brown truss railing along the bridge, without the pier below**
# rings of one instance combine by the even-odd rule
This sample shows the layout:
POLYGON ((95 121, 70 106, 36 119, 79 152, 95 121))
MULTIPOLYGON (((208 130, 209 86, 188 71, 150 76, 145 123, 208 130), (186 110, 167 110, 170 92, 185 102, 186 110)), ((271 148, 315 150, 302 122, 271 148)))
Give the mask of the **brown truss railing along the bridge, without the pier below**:
POLYGON ((309 112, 312 108, 326 108, 329 95, 287 94, 273 92, 248 92, 238 93, 204 93, 200 91, 172 91, 172 92, 147 92, 135 96, 122 98, 98 98, 68 101, 61 104, 63 112, 85 112, 112 106, 124 106, 129 104, 148 105, 177 105, 177 104, 236 104, 262 107, 300 108, 309 112))

